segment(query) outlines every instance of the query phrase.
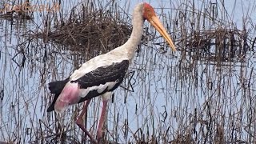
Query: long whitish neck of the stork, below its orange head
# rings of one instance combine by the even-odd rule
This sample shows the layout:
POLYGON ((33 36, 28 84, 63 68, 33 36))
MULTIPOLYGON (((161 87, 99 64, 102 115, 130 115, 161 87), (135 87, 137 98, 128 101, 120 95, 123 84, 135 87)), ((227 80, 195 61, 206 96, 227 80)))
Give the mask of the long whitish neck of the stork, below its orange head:
POLYGON ((120 50, 122 54, 126 54, 126 57, 129 58, 129 60, 131 60, 134 57, 136 48, 142 39, 143 23, 144 23, 144 18, 142 16, 142 13, 143 13, 142 8, 143 8, 143 4, 139 4, 134 8, 133 19, 132 19, 133 30, 132 30, 132 33, 130 34, 130 38, 125 44, 123 44, 122 46, 119 46, 116 49, 118 51, 120 50))

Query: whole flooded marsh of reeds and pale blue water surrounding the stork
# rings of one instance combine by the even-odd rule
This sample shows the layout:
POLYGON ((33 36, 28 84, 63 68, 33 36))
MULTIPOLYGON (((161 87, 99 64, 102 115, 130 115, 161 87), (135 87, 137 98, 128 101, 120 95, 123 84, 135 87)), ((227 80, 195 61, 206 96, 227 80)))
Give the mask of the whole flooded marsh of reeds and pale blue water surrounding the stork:
MULTIPOLYGON (((25 1, 8 6, 15 2, 25 1)), ((88 142, 74 123, 82 104, 46 113, 47 83, 121 46, 131 33, 128 1, 49 2, 60 9, 0 11, 0 143, 88 142)), ((134 66, 108 107, 104 143, 256 142, 256 3, 242 11, 240 24, 234 3, 231 14, 218 0, 156 4, 178 52, 145 26, 134 66)), ((100 106, 94 98, 85 118, 92 134, 100 106)))

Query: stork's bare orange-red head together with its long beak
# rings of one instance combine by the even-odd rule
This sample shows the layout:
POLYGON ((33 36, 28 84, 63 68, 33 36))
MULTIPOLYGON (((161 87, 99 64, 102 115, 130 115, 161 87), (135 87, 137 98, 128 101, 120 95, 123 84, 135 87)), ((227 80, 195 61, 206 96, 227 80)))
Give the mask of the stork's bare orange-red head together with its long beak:
POLYGON ((169 43, 170 48, 174 51, 176 51, 174 42, 171 40, 169 34, 167 34, 166 29, 164 26, 162 26, 162 23, 156 16, 154 12, 154 8, 150 6, 150 4, 144 2, 143 3, 143 18, 145 18, 160 34, 162 34, 162 37, 166 39, 166 41, 169 43))

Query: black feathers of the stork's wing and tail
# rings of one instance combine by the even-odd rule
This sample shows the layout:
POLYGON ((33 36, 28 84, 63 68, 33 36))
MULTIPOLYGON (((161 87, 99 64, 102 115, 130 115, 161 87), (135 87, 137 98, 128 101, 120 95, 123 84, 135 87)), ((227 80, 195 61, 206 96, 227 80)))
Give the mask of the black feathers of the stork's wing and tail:
MULTIPOLYGON (((122 80, 126 75, 126 71, 128 70, 128 67, 129 67, 129 61, 123 60, 122 62, 113 63, 110 66, 98 67, 96 70, 90 71, 89 73, 85 74, 81 78, 71 81, 71 82, 78 82, 80 89, 86 89, 91 86, 99 86, 101 84, 104 85, 106 82, 118 82, 111 90, 108 90, 106 87, 106 90, 103 90, 102 93, 98 93, 97 90, 91 90, 86 95, 86 97, 81 98, 79 102, 83 102, 83 101, 86 101, 87 99, 97 97, 98 95, 104 94, 107 91, 115 90, 122 83, 122 80)), ((49 83, 50 93, 55 94, 55 96, 54 96, 54 101, 52 102, 50 107, 47 109, 47 112, 54 110, 54 104, 59 94, 61 94, 64 86, 69 81, 70 79, 67 78, 64 81, 56 81, 56 82, 49 83)))

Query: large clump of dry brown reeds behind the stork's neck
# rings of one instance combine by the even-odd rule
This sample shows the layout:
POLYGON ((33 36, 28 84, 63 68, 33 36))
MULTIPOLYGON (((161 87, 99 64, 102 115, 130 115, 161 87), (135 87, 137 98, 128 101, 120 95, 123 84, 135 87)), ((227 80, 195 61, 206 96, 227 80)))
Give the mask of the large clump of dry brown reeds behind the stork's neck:
MULTIPOLYGON (((96 3, 96 2, 95 2, 96 3)), ((60 17, 52 25, 38 33, 39 38, 57 42, 74 51, 86 51, 93 56, 97 52, 106 53, 121 46, 129 38, 132 27, 130 18, 121 18, 124 11, 117 4, 99 7, 93 2, 82 2, 70 11, 69 18, 60 17)), ((46 21, 47 22, 47 21, 46 21)))

